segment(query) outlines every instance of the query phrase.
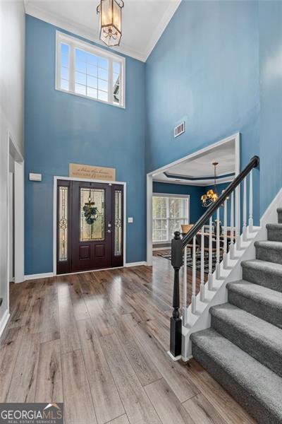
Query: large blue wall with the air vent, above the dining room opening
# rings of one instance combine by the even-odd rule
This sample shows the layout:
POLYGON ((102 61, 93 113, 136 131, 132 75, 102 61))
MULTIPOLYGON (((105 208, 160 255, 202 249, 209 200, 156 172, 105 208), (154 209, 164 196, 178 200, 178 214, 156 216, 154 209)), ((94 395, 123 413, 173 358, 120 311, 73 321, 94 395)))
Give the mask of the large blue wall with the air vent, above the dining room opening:
POLYGON ((257 1, 182 1, 147 60, 146 100, 147 172, 237 131, 241 167, 259 154, 257 1))

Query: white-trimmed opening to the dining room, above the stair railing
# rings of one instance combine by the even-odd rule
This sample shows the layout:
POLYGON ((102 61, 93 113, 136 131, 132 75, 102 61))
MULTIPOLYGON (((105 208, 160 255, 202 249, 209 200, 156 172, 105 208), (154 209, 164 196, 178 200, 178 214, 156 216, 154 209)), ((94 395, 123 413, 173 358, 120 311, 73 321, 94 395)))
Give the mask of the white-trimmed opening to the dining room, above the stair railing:
POLYGON ((170 258, 173 232, 187 232, 204 213, 202 198, 206 192, 216 187, 222 191, 239 172, 237 133, 147 174, 147 265, 153 264, 153 254, 156 256, 158 250, 167 250, 159 256, 170 258), (219 163, 216 177, 213 163, 219 163), (181 197, 189 202, 186 215, 181 197))

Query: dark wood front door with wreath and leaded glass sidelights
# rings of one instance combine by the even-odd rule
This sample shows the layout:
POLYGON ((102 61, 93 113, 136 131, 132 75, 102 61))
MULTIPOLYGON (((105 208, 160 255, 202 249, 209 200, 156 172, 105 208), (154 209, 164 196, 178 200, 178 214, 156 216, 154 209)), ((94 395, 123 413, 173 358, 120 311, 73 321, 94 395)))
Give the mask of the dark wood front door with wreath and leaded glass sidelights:
POLYGON ((123 265, 123 186, 58 182, 57 273, 123 265))

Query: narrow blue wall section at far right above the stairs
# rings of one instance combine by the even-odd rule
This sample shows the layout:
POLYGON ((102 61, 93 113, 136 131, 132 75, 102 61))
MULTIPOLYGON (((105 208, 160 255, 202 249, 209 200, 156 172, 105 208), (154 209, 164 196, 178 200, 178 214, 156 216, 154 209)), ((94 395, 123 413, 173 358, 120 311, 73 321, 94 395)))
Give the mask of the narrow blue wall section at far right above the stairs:
POLYGON ((282 187, 282 2, 259 1, 261 213, 282 187))

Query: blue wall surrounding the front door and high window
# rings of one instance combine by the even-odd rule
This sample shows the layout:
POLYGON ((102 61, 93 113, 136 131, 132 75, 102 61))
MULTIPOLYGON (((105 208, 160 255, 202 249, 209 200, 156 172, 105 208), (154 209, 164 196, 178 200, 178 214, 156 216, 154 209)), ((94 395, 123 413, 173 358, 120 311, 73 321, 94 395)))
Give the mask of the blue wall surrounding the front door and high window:
POLYGON ((53 270, 53 177, 71 162, 127 182, 127 261, 145 260, 145 64, 126 57, 126 108, 55 90, 56 29, 26 17, 25 274, 53 270), (28 181, 42 173, 42 182, 28 181), (136 242, 138 240, 138 242, 136 242))

